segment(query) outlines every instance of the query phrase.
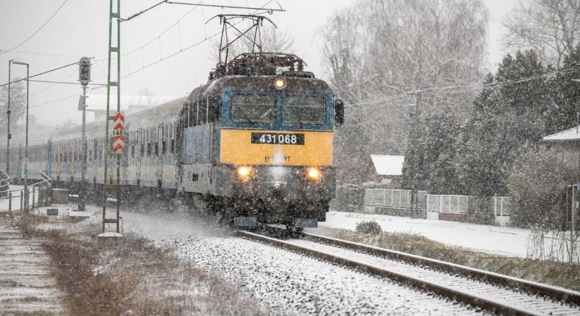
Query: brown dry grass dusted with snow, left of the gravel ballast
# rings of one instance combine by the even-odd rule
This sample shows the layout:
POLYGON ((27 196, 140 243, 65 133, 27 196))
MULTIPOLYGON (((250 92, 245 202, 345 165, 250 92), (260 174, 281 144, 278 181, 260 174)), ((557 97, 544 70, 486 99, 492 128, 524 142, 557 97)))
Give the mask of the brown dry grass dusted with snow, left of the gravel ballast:
POLYGON ((119 242, 99 242, 97 219, 28 226, 45 239, 70 315, 268 315, 236 284, 148 239, 126 233, 119 242))

